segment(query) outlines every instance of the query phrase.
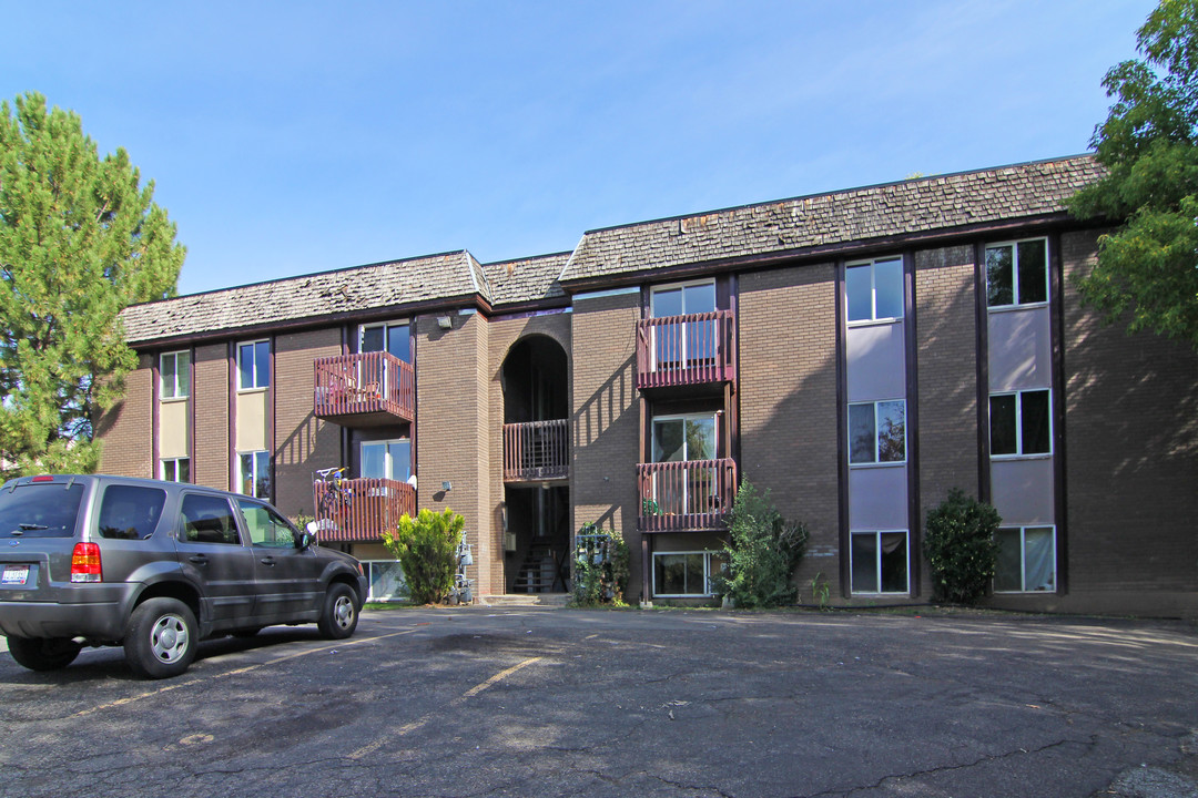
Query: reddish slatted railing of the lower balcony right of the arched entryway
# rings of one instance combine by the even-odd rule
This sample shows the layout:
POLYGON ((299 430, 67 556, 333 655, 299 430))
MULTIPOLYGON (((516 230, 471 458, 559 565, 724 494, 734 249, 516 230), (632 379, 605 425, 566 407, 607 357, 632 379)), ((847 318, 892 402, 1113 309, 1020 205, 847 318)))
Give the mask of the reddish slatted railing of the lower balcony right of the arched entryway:
POLYGON ((636 467, 641 498, 637 526, 642 532, 685 532, 725 529, 737 495, 732 458, 636 467))

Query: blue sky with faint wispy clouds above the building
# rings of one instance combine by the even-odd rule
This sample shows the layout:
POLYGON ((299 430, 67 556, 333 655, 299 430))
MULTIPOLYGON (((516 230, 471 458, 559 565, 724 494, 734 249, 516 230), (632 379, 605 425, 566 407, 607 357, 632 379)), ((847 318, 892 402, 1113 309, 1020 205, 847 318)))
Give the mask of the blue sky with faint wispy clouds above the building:
POLYGON ((1084 152, 1144 0, 0 0, 0 98, 125 147, 180 292, 1084 152))

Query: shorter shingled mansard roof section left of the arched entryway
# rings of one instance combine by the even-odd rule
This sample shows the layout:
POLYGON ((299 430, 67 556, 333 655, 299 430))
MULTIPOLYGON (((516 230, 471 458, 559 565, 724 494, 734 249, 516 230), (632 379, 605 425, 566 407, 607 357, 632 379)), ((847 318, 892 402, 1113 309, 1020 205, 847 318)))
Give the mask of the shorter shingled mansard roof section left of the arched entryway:
POLYGON ((139 343, 473 294, 490 300, 483 266, 462 250, 133 305, 121 321, 139 343))

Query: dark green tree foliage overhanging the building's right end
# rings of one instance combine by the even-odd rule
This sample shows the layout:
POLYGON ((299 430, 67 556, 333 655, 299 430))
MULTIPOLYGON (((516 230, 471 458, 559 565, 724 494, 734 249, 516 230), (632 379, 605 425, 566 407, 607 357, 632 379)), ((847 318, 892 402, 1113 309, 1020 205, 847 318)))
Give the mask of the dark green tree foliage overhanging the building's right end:
POLYGON ((1071 202, 1126 223, 1078 286, 1109 321, 1130 313, 1129 331, 1198 348, 1198 0, 1162 0, 1137 49, 1102 81, 1117 99, 1090 145, 1108 173, 1071 202))

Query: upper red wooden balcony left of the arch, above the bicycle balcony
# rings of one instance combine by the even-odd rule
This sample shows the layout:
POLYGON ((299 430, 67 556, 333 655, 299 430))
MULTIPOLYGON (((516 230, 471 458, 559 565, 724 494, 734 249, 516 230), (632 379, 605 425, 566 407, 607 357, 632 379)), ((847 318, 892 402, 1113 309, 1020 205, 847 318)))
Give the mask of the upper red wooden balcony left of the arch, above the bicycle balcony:
POLYGON ((416 419, 416 370, 388 352, 319 358, 313 415, 344 427, 416 419))

